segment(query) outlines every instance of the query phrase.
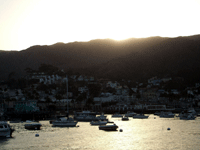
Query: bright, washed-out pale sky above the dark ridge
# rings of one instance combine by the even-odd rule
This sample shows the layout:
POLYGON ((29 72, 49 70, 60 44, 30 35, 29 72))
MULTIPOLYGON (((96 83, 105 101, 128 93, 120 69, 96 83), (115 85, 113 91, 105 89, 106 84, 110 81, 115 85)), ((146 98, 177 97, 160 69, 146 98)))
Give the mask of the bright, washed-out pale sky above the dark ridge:
POLYGON ((200 34, 200 0, 0 0, 0 50, 200 34))

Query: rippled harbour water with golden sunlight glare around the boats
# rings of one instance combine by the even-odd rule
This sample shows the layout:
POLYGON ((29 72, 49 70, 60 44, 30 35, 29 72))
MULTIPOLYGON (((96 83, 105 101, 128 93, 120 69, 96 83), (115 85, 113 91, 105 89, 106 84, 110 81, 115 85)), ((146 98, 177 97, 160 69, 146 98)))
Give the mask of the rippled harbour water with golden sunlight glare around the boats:
MULTIPOLYGON (((111 116, 108 116, 110 118, 111 116)), ((178 120, 150 115, 148 119, 121 121, 110 118, 118 131, 102 131, 89 122, 79 122, 79 127, 52 127, 49 121, 40 121, 42 129, 24 129, 24 123, 11 123, 15 128, 13 138, 0 139, 0 149, 53 149, 53 150, 188 150, 200 149, 200 119, 178 120), (156 117, 156 119, 154 119, 156 117), (170 128, 171 130, 167 130, 170 128), (35 134, 39 137, 35 137, 35 134)))

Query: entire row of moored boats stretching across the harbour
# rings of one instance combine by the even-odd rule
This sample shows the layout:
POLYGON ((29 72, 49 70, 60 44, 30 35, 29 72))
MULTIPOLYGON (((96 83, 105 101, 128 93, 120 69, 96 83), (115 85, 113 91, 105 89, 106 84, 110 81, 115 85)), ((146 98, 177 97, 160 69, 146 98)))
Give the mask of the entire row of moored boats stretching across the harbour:
MULTIPOLYGON (((194 110, 183 111, 179 115, 175 115, 172 112, 156 112, 154 115, 159 116, 160 118, 174 118, 178 117, 181 120, 194 120, 196 118, 197 113, 194 110)), ((135 112, 128 112, 124 115, 116 113, 112 115, 113 118, 121 118, 122 121, 128 121, 129 117, 133 119, 147 119, 149 116, 144 114, 137 114, 135 112)), ((79 121, 87 121, 90 122, 91 125, 98 125, 99 130, 106 131, 115 131, 118 126, 107 119, 107 116, 101 114, 96 116, 95 113, 90 111, 79 112, 74 115, 74 117, 57 117, 55 120, 51 120, 50 124, 55 127, 78 127, 77 123, 79 121)), ((11 122, 10 123, 14 123, 11 122)), ((29 130, 40 130, 42 124, 36 121, 27 120, 24 124, 25 129, 29 130)), ((7 121, 0 121, 0 137, 11 137, 12 133, 15 130, 7 123, 7 121)))

